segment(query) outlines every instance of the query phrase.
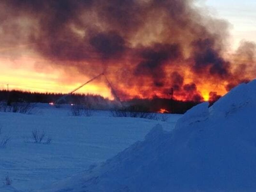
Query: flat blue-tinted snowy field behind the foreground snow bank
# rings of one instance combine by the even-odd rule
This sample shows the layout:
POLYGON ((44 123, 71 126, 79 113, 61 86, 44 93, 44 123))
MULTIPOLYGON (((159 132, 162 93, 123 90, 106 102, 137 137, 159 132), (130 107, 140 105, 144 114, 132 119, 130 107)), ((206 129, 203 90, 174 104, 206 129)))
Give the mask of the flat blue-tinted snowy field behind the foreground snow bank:
POLYGON ((172 130, 181 115, 165 115, 166 122, 111 117, 108 111, 74 117, 67 107, 48 105, 39 105, 33 115, 0 113, 0 140, 11 137, 6 148, 0 148, 0 191, 35 191, 86 170, 143 140, 156 124, 172 130), (44 131, 51 144, 33 143, 33 130, 44 131), (11 186, 3 184, 7 175, 11 186))

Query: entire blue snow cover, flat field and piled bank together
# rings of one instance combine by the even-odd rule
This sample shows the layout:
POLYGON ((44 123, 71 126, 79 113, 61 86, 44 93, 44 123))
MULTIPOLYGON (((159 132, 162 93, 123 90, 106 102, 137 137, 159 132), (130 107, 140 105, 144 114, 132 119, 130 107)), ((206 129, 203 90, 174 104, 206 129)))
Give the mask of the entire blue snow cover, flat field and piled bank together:
POLYGON ((0 191, 256 190, 256 80, 210 108, 205 102, 168 116, 166 122, 106 111, 73 117, 49 106, 35 115, 1 113, 2 136, 12 140, 0 149, 0 176, 13 182, 0 191), (35 129, 52 142, 33 143, 35 129))

